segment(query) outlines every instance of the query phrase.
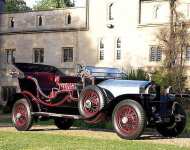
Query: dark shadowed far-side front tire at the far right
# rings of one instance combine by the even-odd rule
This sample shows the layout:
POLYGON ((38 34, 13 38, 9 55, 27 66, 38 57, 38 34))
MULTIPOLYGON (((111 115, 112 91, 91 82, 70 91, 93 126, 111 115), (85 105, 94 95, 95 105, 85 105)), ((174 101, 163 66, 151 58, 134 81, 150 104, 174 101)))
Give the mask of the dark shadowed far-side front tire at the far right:
POLYGON ((164 137, 176 137, 181 134, 186 125, 186 113, 179 103, 173 105, 173 116, 170 123, 159 124, 156 129, 164 137), (181 116, 179 121, 175 118, 181 116))

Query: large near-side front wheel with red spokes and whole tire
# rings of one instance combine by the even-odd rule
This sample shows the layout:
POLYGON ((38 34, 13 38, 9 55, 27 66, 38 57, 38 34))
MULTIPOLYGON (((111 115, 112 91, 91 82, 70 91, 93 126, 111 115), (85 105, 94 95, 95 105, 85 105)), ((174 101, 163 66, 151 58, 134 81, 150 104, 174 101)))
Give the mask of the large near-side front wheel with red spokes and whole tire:
POLYGON ((112 122, 121 138, 137 139, 146 126, 144 109, 134 100, 123 100, 114 108, 112 122))

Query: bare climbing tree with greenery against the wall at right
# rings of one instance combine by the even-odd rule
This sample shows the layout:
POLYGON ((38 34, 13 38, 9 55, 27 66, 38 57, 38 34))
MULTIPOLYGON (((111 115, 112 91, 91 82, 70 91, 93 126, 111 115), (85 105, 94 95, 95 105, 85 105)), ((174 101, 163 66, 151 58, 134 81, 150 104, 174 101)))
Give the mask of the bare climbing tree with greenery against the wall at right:
POLYGON ((160 29, 157 35, 165 59, 160 70, 153 75, 153 80, 164 87, 172 86, 176 92, 181 93, 185 87, 185 50, 190 36, 183 15, 176 11, 176 0, 169 0, 169 3, 169 27, 160 29))

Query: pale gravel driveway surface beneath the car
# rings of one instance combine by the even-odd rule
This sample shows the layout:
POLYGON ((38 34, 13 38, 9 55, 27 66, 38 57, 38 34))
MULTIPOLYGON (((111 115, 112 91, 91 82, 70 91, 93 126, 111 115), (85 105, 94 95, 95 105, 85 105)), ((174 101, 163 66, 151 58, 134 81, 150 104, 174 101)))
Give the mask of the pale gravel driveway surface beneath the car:
MULTIPOLYGON (((13 127, 0 127, 0 131, 17 132, 13 127)), ((55 126, 34 126, 30 132, 47 133, 47 134, 59 134, 66 136, 82 136, 82 137, 92 137, 97 139, 107 139, 107 140, 123 140, 117 136, 116 133, 107 130, 86 130, 80 128, 71 128, 70 130, 63 131, 58 130, 55 126)), ((146 143, 158 143, 158 144, 171 144, 177 145, 179 147, 188 147, 190 149, 190 138, 180 137, 180 138, 163 138, 162 136, 151 132, 145 132, 138 140, 139 142, 146 143)))

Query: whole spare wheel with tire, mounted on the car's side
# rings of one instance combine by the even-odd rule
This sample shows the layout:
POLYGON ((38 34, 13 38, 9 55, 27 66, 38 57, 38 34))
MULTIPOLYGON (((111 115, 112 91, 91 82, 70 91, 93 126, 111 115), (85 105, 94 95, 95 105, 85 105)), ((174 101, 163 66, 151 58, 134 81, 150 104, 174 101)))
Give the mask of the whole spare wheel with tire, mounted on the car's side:
POLYGON ((104 94, 98 86, 87 86, 80 93, 78 107, 80 114, 85 118, 92 118, 104 107, 104 94))

